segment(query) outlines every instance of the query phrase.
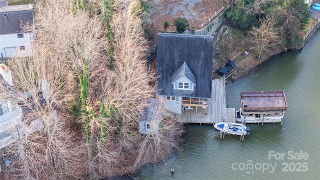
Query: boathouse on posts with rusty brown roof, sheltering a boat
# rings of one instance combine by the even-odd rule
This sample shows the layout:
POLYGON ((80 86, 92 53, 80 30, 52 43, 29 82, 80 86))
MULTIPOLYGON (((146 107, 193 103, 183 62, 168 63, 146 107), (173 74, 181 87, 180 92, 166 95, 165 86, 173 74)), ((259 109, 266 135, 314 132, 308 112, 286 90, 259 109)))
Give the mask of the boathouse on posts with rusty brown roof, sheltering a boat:
POLYGON ((240 92, 241 116, 250 122, 280 122, 286 113, 287 104, 284 91, 248 91, 240 92), (253 117, 253 118, 248 118, 253 117))

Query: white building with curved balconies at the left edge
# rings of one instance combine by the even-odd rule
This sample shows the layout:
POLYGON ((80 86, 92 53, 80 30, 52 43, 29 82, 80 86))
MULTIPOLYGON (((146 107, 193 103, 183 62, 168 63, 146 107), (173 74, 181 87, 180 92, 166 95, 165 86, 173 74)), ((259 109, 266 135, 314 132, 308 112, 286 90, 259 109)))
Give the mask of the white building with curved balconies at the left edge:
POLYGON ((5 99, 4 93, 12 88, 10 70, 0 64, 0 149, 8 146, 24 134, 22 109, 15 103, 5 99))

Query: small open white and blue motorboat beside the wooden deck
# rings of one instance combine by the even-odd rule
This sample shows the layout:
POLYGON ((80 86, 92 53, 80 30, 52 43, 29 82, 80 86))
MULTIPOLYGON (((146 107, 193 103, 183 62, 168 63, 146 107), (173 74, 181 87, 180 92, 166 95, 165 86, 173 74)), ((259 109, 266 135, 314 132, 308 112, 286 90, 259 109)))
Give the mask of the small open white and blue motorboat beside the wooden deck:
POLYGON ((235 134, 235 135, 249 134, 249 128, 240 123, 218 122, 213 126, 214 128, 224 133, 235 134))

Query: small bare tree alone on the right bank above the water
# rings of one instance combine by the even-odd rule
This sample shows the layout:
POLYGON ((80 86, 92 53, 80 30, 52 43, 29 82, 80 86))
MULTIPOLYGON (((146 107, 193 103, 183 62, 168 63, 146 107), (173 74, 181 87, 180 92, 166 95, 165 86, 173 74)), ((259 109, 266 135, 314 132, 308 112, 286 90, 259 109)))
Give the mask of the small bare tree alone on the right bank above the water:
POLYGON ((274 22, 271 19, 260 20, 260 27, 252 27, 249 33, 252 36, 253 48, 257 51, 257 57, 260 58, 261 53, 272 49, 277 43, 279 36, 277 28, 274 28, 274 22))

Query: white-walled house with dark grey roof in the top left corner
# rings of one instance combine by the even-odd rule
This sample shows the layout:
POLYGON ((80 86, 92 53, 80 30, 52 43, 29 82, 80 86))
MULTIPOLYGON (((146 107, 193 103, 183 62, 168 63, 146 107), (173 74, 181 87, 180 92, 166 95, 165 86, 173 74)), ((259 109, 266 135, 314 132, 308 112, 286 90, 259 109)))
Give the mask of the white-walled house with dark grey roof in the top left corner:
POLYGON ((32 55, 34 36, 33 5, 8 5, 0 8, 0 58, 32 55), (22 25, 31 25, 23 30, 22 25))

